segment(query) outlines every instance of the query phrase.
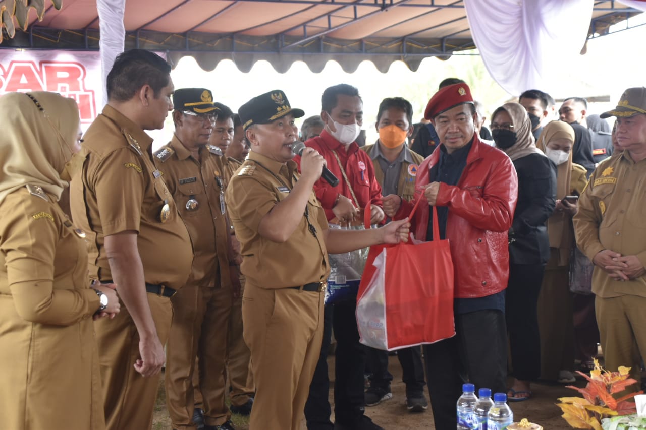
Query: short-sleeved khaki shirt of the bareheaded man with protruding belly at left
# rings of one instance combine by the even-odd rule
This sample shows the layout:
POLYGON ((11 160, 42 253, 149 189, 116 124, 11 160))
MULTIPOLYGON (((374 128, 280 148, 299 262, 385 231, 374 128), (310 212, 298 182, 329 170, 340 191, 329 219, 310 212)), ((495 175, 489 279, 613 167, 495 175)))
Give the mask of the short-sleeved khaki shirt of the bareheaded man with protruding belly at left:
POLYGON ((105 236, 138 233, 145 282, 180 289, 191 272, 191 238, 161 173, 152 163, 152 139, 110 106, 90 125, 70 185, 74 223, 89 242, 91 278, 112 280, 105 236), (170 211, 165 222, 164 205, 170 211))

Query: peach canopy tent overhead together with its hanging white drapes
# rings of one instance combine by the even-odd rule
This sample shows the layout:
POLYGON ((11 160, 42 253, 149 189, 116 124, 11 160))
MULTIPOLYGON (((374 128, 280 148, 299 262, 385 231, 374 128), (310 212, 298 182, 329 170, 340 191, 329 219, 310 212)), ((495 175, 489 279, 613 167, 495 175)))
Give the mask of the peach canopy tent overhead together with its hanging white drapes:
POLYGON ((495 81, 510 94, 542 87, 555 56, 572 57, 587 37, 646 9, 641 0, 0 0, 0 48, 91 50, 105 70, 123 48, 165 51, 175 63, 190 55, 205 70, 231 59, 246 72, 269 61, 284 72, 304 61, 320 72, 329 60, 353 72, 371 60, 386 72, 401 60, 446 59, 476 47, 495 81), (62 1, 62 6, 60 5, 62 1), (27 15, 33 5, 43 20, 27 15), (54 7, 56 6, 56 7, 54 7), (59 9, 57 9, 61 6, 59 9), (99 19, 100 17, 100 19, 99 19), (100 26, 100 28, 99 28, 100 26), (71 30, 75 29, 76 30, 71 30), (99 32, 101 37, 99 39, 99 32))

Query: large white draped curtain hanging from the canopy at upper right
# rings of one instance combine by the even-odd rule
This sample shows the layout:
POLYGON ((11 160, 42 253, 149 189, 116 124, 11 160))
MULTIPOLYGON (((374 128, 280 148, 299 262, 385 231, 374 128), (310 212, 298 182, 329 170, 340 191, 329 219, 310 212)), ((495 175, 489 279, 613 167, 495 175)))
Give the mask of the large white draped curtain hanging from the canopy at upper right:
POLYGON ((485 67, 514 96, 545 88, 579 55, 592 6, 592 0, 464 0, 485 67))

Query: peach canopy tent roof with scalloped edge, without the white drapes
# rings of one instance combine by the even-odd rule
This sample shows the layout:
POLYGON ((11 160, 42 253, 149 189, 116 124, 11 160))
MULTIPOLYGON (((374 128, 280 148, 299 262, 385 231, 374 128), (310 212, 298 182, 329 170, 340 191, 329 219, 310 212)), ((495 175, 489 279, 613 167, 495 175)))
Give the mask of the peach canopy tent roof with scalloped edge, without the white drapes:
MULTIPOLYGON (((25 1, 1 0, 3 17, 12 3, 19 5, 17 15, 24 14, 25 1)), ((44 12, 43 21, 30 14, 23 19, 26 32, 5 37, 0 48, 99 48, 97 0, 62 0, 60 10, 50 0, 28 2, 44 12)), ((119 3, 106 4, 114 9, 119 3)), ((123 26, 125 48, 166 51, 175 62, 191 55, 205 70, 232 59, 247 72, 265 59, 279 72, 298 60, 320 72, 333 59, 353 72, 368 59, 386 72, 395 60, 417 70, 426 57, 446 59, 475 48, 466 12, 463 0, 128 0, 123 26)), ((605 34, 639 12, 617 1, 594 1, 588 36, 605 34)))

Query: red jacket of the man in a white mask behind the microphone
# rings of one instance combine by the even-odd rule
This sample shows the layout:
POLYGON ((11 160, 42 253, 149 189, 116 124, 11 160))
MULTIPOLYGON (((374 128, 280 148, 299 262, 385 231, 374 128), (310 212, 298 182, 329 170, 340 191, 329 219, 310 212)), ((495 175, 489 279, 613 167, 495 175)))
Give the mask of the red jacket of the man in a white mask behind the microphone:
MULTIPOLYGON (((351 143, 346 152, 342 143, 323 130, 320 136, 309 139, 305 145, 315 148, 320 152, 328 162, 328 170, 339 178, 339 185, 336 187, 332 187, 322 178, 318 179, 317 183, 314 184, 314 191, 317 194, 318 200, 322 203, 323 209, 325 209, 328 221, 335 217, 334 212, 332 212, 332 207, 337 201, 339 194, 346 196, 355 203, 349 185, 351 185, 355 196, 357 196, 359 207, 370 208, 370 204, 379 207, 383 206, 381 187, 375 178, 375 167, 372 164, 370 156, 365 151, 360 150, 356 142, 351 143), (337 152, 341 165, 346 170, 349 184, 341 174, 341 169, 339 168, 337 158, 334 156, 334 152, 337 152)), ((296 156, 294 161, 298 163, 298 169, 300 170, 300 157, 296 156)))

